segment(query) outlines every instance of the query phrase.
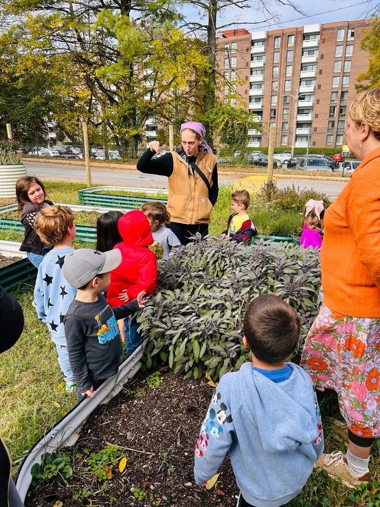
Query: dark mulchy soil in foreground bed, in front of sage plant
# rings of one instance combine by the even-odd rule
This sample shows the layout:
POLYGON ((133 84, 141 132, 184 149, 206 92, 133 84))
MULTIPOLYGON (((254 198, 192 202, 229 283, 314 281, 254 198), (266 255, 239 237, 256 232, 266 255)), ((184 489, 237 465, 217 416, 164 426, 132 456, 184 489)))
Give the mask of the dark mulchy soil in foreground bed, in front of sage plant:
MULTIPOLYGON (((165 370, 165 369, 163 369, 165 370)), ((213 388, 204 379, 185 379, 163 372, 163 382, 149 387, 139 374, 107 405, 100 406, 82 429, 71 457, 73 477, 32 489, 26 507, 221 507, 235 506, 238 488, 228 459, 209 491, 194 482, 194 448, 213 388), (89 466, 92 452, 107 444, 121 446, 117 460, 99 481, 89 466), (126 456, 124 472, 120 459, 126 456)), ((149 377, 148 377, 149 379, 149 377)))

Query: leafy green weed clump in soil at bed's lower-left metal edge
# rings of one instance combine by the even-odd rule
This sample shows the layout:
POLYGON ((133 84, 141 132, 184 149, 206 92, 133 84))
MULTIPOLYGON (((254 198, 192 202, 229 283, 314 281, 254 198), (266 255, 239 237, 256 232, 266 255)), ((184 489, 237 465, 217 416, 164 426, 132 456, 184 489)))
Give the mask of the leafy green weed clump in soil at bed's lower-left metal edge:
POLYGON ((43 481, 50 481, 53 477, 62 479, 64 485, 67 486, 67 479, 72 476, 70 456, 64 453, 51 454, 47 452, 42 455, 41 465, 34 463, 30 473, 32 475, 32 486, 36 486, 43 481))

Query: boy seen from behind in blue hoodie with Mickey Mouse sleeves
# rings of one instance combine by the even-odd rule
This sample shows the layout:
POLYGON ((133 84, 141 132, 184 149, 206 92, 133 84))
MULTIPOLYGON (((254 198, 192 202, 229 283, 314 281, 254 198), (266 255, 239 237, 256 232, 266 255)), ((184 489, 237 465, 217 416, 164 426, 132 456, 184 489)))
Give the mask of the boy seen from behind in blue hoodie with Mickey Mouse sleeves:
POLYGON ((216 473, 230 452, 241 491, 238 507, 280 507, 307 482, 323 452, 313 383, 285 360, 297 349, 300 321, 274 294, 255 298, 244 316, 252 363, 221 378, 195 452, 197 484, 216 473))

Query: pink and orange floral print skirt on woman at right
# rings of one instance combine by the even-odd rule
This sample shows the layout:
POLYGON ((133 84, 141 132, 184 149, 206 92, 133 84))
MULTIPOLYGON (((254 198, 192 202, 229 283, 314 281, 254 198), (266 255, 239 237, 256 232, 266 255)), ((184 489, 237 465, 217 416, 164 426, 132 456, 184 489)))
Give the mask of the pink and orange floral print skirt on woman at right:
POLYGON ((341 315, 322 306, 300 365, 316 387, 333 389, 347 426, 359 437, 380 436, 380 318, 341 315))

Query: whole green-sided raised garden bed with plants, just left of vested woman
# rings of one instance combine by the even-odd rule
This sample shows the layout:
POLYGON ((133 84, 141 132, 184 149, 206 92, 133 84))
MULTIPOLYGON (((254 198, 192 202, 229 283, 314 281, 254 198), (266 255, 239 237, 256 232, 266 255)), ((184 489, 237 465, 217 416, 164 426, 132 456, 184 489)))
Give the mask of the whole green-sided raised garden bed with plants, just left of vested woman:
POLYGON ((89 187, 78 190, 79 202, 97 206, 138 208, 148 201, 167 204, 167 190, 136 189, 133 187, 89 187))

